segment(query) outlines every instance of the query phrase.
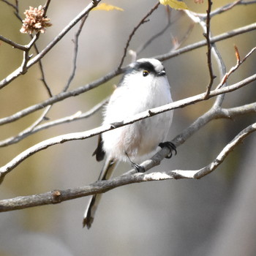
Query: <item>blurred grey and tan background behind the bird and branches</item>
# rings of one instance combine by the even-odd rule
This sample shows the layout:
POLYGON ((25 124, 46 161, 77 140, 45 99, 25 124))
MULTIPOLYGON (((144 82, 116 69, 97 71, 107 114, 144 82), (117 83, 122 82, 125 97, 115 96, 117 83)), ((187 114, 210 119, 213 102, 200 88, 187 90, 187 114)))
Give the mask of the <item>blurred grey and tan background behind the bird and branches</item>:
MULTIPOLYGON (((230 1, 214 1, 213 9, 230 1)), ((195 4, 186 1, 191 10, 205 12, 207 1, 195 4)), ((38 7, 42 1, 20 1, 20 15, 29 6, 38 7)), ((48 18, 53 23, 37 42, 45 48, 64 26, 89 1, 51 1, 48 18)), ((124 45, 132 29, 154 7, 156 0, 129 2, 108 0, 124 12, 93 11, 80 35, 78 69, 69 89, 83 86, 115 69, 121 61, 124 45)), ((255 23, 256 5, 237 6, 212 19, 213 35, 255 23)), ((157 56, 173 48, 173 38, 181 39, 187 33, 191 20, 181 12, 172 11, 172 26, 140 53, 141 57, 157 56)), ((135 34, 129 49, 136 50, 167 23, 165 7, 160 6, 135 34)), ((0 1, 0 34, 20 44, 29 42, 27 34, 20 33, 21 23, 12 7, 0 1)), ((53 94, 66 85, 72 69, 73 42, 78 26, 72 29, 42 64, 53 94)), ((200 26, 195 25, 184 45, 203 39, 200 26)), ((227 70, 236 64, 233 45, 241 57, 255 47, 256 32, 251 31, 218 42, 227 70)), ((23 54, 10 45, 0 45, 0 78, 3 79, 20 66, 23 54)), ((125 59, 129 64, 130 56, 125 59)), ((233 74, 229 84, 255 73, 255 53, 233 74)), ((214 61, 213 61, 214 62, 214 61)), ((206 47, 185 53, 164 62, 173 99, 199 94, 208 84, 206 47)), ((214 63, 214 74, 219 72, 214 63)), ((0 92, 0 117, 48 98, 40 81, 38 65, 29 69, 0 92)), ((113 91, 120 77, 78 97, 59 102, 48 113, 54 120, 86 112, 113 91)), ((231 108, 255 102, 255 83, 234 91, 225 97, 224 107, 231 108)), ((214 99, 200 102, 174 113, 170 139, 180 134, 189 124, 211 108, 214 99)), ((68 132, 80 132, 101 124, 101 111, 88 119, 43 130, 19 143, 0 148, 0 165, 39 141, 68 132)), ((19 121, 1 127, 0 140, 17 135, 29 127, 42 113, 32 113, 19 121)), ((197 170, 208 165, 219 151, 241 129, 255 121, 255 114, 234 120, 212 121, 200 129, 178 154, 165 159, 154 170, 197 170)), ((91 230, 82 228, 83 211, 88 198, 70 200, 58 205, 41 206, 0 214, 0 255, 256 255, 256 137, 250 135, 226 161, 201 180, 147 182, 119 187, 106 193, 98 208, 91 230)), ((67 189, 91 184, 97 180, 102 162, 91 157, 97 138, 73 141, 53 146, 29 157, 15 168, 0 187, 1 199, 20 195, 34 195, 52 189, 67 189)), ((119 165, 115 175, 129 170, 119 165)))

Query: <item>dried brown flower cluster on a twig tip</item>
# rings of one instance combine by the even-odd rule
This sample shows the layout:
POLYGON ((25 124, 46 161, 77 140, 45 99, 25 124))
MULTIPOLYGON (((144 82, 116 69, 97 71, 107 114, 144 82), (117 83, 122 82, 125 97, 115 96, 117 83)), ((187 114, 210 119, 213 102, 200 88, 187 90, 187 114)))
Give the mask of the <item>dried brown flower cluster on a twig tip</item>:
POLYGON ((44 17, 45 10, 42 5, 37 7, 29 7, 29 10, 26 10, 24 14, 26 18, 22 20, 23 25, 20 29, 21 33, 32 34, 35 32, 45 33, 45 29, 52 24, 49 23, 48 18, 44 17))

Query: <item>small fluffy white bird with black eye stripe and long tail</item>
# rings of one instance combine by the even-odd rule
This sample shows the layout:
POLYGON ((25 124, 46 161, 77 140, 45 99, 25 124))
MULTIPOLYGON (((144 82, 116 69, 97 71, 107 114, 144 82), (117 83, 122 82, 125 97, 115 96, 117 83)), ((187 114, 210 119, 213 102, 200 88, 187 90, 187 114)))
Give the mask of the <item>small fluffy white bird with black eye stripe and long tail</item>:
MULTIPOLYGON (((118 87, 105 108, 103 124, 112 124, 134 116, 150 108, 172 102, 170 85, 165 68, 157 59, 139 59, 129 65, 118 87)), ((93 155, 97 161, 107 157, 99 180, 111 177, 119 161, 132 162, 138 171, 143 171, 139 162, 152 157, 158 146, 167 146, 176 152, 173 143, 165 142, 173 119, 173 111, 152 116, 134 124, 119 127, 99 135, 99 143, 93 155)), ((93 195, 83 218, 83 227, 91 227, 102 194, 93 195)))

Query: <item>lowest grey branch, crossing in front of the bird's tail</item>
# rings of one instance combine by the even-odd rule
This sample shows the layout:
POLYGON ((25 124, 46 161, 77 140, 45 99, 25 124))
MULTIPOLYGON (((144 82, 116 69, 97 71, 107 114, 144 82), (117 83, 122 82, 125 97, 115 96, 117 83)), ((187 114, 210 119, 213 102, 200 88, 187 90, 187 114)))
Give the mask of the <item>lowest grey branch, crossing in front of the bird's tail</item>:
MULTIPOLYGON (((211 164, 200 170, 169 170, 154 173, 132 173, 129 171, 122 176, 111 178, 105 181, 96 181, 94 184, 78 187, 74 189, 53 190, 43 194, 29 195, 23 197, 15 197, 6 200, 0 200, 0 211, 14 211, 23 208, 34 206, 45 206, 55 203, 61 203, 66 200, 72 200, 79 197, 94 195, 98 193, 107 192, 110 189, 121 187, 127 184, 140 183, 146 181, 162 181, 167 179, 180 179, 180 178, 202 178, 215 170, 230 154, 233 149, 238 146, 246 137, 252 132, 256 131, 256 123, 246 127, 241 131, 236 138, 222 149, 216 159, 211 164)), ((154 156, 156 157, 156 155, 154 156)), ((152 157, 152 159, 154 158, 152 157)), ((146 161, 147 162, 147 161, 146 161)), ((144 165, 146 165, 144 162, 144 165)), ((157 162, 156 162, 157 164, 157 162)))

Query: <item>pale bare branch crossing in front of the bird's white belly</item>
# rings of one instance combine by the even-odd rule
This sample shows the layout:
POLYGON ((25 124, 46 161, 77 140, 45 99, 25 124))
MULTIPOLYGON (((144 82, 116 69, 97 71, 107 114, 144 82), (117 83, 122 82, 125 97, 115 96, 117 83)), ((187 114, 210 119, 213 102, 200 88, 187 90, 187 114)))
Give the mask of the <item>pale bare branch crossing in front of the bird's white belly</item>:
MULTIPOLYGON (((227 86, 227 87, 224 87, 221 89, 215 89, 214 91, 210 92, 208 98, 215 97, 219 94, 225 94, 230 91, 235 91, 237 89, 240 89, 243 86, 246 86, 249 83, 252 83, 252 81, 254 81, 254 80, 256 80, 256 74, 250 76, 249 78, 241 80, 239 83, 233 84, 232 86, 227 86)), ((139 121, 143 118, 155 116, 159 113, 163 113, 165 111, 173 110, 176 108, 184 108, 187 105, 191 105, 191 104, 194 104, 195 102, 200 102, 203 100, 206 100, 204 93, 198 94, 193 97, 189 97, 187 99, 181 99, 181 100, 178 100, 177 102, 173 102, 173 103, 170 103, 170 104, 158 107, 158 108, 152 108, 150 110, 146 110, 142 113, 138 113, 135 116, 127 118, 124 121, 116 122, 116 123, 114 123, 115 125, 107 124, 102 127, 97 127, 97 128, 88 130, 86 132, 73 132, 73 133, 69 133, 67 135, 59 135, 54 138, 44 140, 40 143, 37 143, 34 146, 31 146, 31 148, 26 149, 22 153, 20 153, 17 157, 15 157, 10 162, 8 162, 7 165, 0 167, 0 182, 3 181, 4 176, 7 173, 10 173, 10 171, 13 170, 16 166, 18 166, 20 164, 20 162, 23 162, 28 157, 31 157, 31 155, 37 153, 38 151, 42 151, 45 148, 48 148, 49 146, 54 146, 56 144, 64 143, 69 140, 84 140, 87 138, 91 138, 95 135, 101 134, 102 132, 107 132, 109 130, 116 129, 118 127, 123 127, 124 125, 127 125, 127 124, 132 124, 135 121, 139 121)), ((175 145, 178 146, 179 144, 175 143, 175 145)), ((167 152, 167 154, 168 153, 169 152, 167 152)))

